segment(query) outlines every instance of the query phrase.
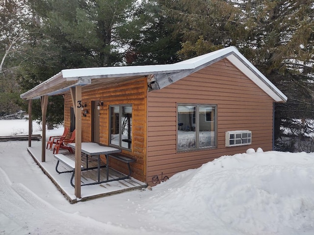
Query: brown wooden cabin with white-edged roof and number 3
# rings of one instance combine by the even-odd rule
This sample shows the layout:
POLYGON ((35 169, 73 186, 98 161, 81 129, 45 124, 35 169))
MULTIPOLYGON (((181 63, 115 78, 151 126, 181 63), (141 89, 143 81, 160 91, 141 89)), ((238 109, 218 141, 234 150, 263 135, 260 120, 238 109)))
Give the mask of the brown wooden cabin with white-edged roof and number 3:
POLYGON ((49 95, 64 96, 64 124, 79 124, 82 142, 121 148, 148 185, 222 155, 272 150, 274 102, 287 101, 235 47, 171 65, 63 70, 21 97, 49 95))

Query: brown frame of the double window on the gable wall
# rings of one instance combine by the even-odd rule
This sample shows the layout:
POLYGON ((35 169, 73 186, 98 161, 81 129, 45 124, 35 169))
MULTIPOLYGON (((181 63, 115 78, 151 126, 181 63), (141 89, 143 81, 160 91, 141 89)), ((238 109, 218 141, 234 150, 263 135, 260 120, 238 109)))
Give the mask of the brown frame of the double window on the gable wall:
MULTIPOLYGON (((218 126, 218 121, 217 121, 217 113, 218 113, 218 105, 217 104, 200 104, 200 103, 177 103, 177 110, 176 110, 176 122, 177 122, 177 128, 176 128, 176 152, 177 153, 182 153, 182 152, 192 152, 192 151, 202 151, 202 150, 209 150, 209 149, 217 149, 217 126, 218 126), (178 147, 178 141, 179 141, 179 135, 178 135, 178 124, 179 124, 179 106, 195 106, 196 107, 196 110, 195 110, 195 119, 193 117, 193 122, 195 120, 195 141, 196 141, 196 144, 195 144, 195 147, 192 147, 192 148, 185 148, 185 149, 179 149, 178 147), (205 147, 200 147, 199 146, 199 141, 200 141, 200 128, 199 128, 199 122, 200 122, 200 106, 211 106, 213 108, 213 110, 215 111, 214 113, 214 146, 205 146, 205 147)), ((194 115, 193 115, 194 116, 194 115)), ((205 115, 206 116, 206 115, 205 115)), ((206 122, 209 122, 206 120, 206 117, 205 117, 205 121, 206 122)), ((194 124, 194 123, 193 123, 194 124)))

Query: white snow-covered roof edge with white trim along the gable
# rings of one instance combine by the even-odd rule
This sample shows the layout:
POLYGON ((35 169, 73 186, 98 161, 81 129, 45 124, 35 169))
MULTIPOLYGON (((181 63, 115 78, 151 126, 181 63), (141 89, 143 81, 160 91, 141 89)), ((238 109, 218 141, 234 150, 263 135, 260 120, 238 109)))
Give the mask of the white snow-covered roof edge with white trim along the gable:
MULTIPOLYGON (((55 74, 48 80, 32 88, 28 92, 21 94, 21 97, 26 97, 37 89, 55 82, 54 80, 66 79, 77 80, 78 77, 93 77, 102 78, 104 76, 121 77, 121 76, 136 76, 148 75, 156 73, 174 73, 184 70, 194 70, 202 68, 211 61, 228 58, 240 71, 247 75, 255 82, 264 92, 271 96, 276 102, 286 102, 287 96, 283 94, 273 83, 271 83, 251 62, 249 62, 236 47, 226 47, 220 50, 210 52, 201 56, 197 56, 179 63, 168 65, 147 65, 147 66, 123 66, 123 67, 100 67, 100 68, 81 68, 81 69, 66 69, 55 74)), ((61 80, 60 80, 61 81, 61 80)))

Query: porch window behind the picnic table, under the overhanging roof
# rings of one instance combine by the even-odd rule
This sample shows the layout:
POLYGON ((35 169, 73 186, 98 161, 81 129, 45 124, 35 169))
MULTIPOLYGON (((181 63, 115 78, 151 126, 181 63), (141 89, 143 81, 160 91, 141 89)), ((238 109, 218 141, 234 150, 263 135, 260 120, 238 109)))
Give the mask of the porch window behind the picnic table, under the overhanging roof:
POLYGON ((131 149, 132 146, 132 106, 111 105, 110 144, 131 149))

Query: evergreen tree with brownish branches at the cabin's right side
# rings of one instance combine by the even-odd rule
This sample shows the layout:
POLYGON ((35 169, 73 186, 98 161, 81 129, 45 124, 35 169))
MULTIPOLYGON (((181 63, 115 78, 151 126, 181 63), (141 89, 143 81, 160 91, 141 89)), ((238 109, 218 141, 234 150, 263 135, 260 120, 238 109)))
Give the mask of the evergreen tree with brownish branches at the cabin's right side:
POLYGON ((232 3, 242 9, 246 19, 238 47, 288 96, 286 104, 276 104, 276 140, 282 134, 280 127, 302 129, 301 134, 313 132, 306 122, 295 119, 314 119, 314 1, 234 0, 232 3))

